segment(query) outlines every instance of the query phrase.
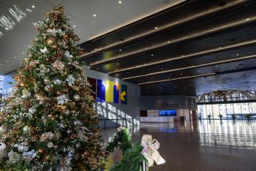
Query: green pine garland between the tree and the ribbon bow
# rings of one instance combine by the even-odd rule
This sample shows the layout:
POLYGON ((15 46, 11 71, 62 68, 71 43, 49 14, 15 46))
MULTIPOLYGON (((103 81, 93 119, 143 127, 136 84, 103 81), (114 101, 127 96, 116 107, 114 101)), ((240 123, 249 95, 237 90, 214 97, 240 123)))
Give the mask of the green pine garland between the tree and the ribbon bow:
POLYGON ((108 143, 106 150, 113 153, 114 149, 118 147, 123 151, 123 159, 113 166, 110 171, 140 171, 141 164, 146 161, 141 154, 143 147, 140 142, 132 144, 129 129, 117 132, 113 142, 108 143))

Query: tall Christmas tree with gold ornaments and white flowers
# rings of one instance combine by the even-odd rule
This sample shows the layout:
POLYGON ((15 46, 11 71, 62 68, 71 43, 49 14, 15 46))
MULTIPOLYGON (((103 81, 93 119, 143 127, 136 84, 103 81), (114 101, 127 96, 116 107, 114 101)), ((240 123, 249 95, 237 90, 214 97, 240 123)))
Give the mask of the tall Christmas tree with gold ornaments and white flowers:
POLYGON ((79 38, 64 8, 54 7, 29 46, 1 112, 0 170, 100 170, 106 152, 79 38))

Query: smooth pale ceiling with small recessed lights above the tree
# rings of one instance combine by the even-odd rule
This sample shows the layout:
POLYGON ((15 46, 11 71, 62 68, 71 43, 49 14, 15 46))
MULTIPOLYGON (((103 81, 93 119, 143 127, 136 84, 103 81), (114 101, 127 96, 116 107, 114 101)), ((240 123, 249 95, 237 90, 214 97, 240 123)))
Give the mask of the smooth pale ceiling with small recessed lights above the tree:
POLYGON ((42 20, 44 12, 54 4, 64 5, 75 33, 81 42, 86 42, 181 1, 184 0, 121 0, 119 4, 118 0, 0 0, 0 75, 22 66, 23 52, 36 34, 32 22, 42 20), (17 13, 14 5, 22 13, 20 22, 9 11, 11 8, 17 13), (7 31, 1 25, 3 17, 10 18, 15 26, 7 31))

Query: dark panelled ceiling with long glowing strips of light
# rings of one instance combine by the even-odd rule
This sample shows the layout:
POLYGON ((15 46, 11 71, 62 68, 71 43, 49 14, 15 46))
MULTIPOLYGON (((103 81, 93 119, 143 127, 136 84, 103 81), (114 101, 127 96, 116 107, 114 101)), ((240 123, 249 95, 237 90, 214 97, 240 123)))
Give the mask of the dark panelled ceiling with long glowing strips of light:
POLYGON ((256 1, 187 1, 83 43, 82 60, 143 96, 255 91, 255 9, 256 1))

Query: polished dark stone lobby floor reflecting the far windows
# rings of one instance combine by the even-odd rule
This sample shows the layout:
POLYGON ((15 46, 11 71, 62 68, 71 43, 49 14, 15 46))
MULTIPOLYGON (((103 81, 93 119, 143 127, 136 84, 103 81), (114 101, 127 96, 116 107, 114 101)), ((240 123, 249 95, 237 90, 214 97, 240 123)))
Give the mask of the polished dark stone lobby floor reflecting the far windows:
MULTIPOLYGON (((116 129, 105 129, 105 140, 111 140, 116 129)), ((132 140, 151 134, 161 146, 165 164, 150 170, 256 170, 256 122, 193 121, 192 123, 141 123, 130 128, 132 140)), ((116 151, 109 164, 121 159, 116 151)))

